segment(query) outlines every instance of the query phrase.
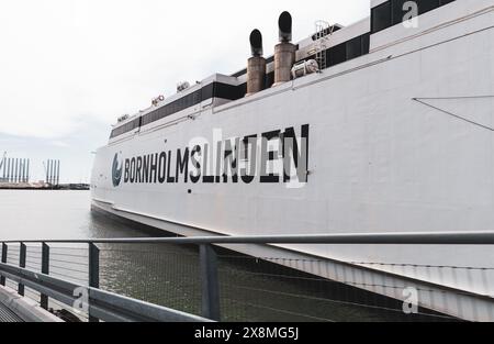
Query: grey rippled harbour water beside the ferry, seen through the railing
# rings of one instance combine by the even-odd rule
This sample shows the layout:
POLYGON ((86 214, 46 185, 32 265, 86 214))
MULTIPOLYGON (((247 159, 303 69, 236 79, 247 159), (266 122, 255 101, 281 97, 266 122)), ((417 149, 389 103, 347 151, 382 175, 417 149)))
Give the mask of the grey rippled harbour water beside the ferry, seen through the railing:
MULTIPOLYGON (((170 235, 91 212, 89 191, 0 191, 0 240, 77 240, 170 235)), ((87 285, 87 247, 53 245, 50 275, 87 285)), ((15 247, 9 248, 15 264, 15 247)), ((445 320, 358 288, 297 273, 276 262, 218 252, 222 321, 445 320)), ((40 247, 27 268, 40 270, 40 247)), ((303 262, 314 264, 314 262, 303 262)), ((201 313, 198 248, 178 245, 100 245, 102 289, 190 313, 201 313)), ((14 288, 15 286, 11 286, 14 288)), ((36 299, 35 292, 26 296, 36 299)), ((50 307, 59 304, 52 301, 50 307)))

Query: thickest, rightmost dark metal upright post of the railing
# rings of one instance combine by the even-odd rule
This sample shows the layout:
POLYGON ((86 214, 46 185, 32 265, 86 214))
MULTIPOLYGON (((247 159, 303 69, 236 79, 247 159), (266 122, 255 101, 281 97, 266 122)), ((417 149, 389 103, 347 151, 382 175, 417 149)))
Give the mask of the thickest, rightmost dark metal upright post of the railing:
POLYGON ((200 246, 202 317, 220 321, 220 286, 217 280, 217 256, 211 244, 200 246))

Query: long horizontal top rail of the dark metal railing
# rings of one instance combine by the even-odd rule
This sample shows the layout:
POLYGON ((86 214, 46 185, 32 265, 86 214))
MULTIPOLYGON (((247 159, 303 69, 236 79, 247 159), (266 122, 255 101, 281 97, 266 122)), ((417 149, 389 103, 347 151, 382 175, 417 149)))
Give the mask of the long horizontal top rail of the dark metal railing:
POLYGON ((195 236, 195 237, 132 237, 91 240, 2 241, 46 244, 393 244, 393 245, 494 245, 493 232, 444 233, 368 233, 368 234, 304 234, 258 236, 195 236))

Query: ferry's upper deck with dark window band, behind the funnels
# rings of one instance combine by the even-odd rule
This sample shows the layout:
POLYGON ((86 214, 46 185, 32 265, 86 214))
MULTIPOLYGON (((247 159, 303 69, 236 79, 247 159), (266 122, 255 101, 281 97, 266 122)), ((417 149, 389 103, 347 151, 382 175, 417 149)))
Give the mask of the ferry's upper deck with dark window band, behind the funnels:
MULTIPOLYGON (((392 44, 403 35, 414 33, 414 27, 400 33, 391 33, 393 26, 409 20, 411 11, 416 10, 418 15, 425 14, 440 7, 457 2, 454 0, 416 0, 416 9, 408 8, 406 0, 372 0, 371 15, 349 26, 335 24, 332 32, 322 38, 311 35, 296 44, 295 64, 316 58, 317 48, 324 40, 325 66, 332 68, 341 63, 367 55, 383 46, 392 44)), ((426 25, 434 25, 434 20, 426 20, 426 25)), ((422 25, 424 29, 424 25, 422 25)), ((274 82, 274 57, 266 59, 265 89, 271 88, 274 82)), ((165 118, 183 114, 190 115, 195 111, 209 107, 222 106, 242 99, 247 92, 247 69, 244 68, 231 76, 213 75, 193 86, 178 91, 176 95, 154 101, 154 104, 132 116, 121 118, 114 125, 110 142, 132 136, 141 129, 159 125, 165 118)))

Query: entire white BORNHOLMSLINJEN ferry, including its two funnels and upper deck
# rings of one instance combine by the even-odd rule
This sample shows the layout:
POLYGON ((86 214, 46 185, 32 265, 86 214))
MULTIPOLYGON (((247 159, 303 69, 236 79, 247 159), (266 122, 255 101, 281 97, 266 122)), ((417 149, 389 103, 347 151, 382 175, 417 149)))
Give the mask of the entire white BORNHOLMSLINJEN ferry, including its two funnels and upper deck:
MULTIPOLYGON (((418 15, 404 21, 414 10, 405 2, 373 0, 370 18, 319 23, 297 44, 284 13, 273 57, 262 57, 255 32, 249 70, 181 85, 121 118, 96 155, 93 208, 180 235, 493 231, 494 1, 416 1, 418 15)), ((490 266, 494 254, 482 247, 236 249, 380 263, 372 279, 385 271, 494 295, 475 270, 396 268, 490 266)), ((489 308, 471 314, 447 303, 424 301, 494 319, 489 308)))

